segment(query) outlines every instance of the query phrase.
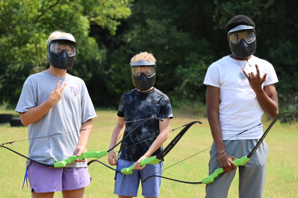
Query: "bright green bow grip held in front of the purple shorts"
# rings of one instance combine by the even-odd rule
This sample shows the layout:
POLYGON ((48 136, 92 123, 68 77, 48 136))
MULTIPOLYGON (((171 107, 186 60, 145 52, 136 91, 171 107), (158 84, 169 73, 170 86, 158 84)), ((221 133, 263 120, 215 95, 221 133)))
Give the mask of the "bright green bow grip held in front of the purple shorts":
POLYGON ((67 164, 72 163, 72 161, 75 161, 76 159, 85 159, 85 158, 89 158, 89 157, 100 158, 106 154, 108 154, 107 151, 90 150, 88 152, 83 152, 79 157, 76 155, 73 155, 73 156, 70 156, 68 159, 58 161, 54 164, 54 167, 62 168, 62 167, 65 167, 67 164))

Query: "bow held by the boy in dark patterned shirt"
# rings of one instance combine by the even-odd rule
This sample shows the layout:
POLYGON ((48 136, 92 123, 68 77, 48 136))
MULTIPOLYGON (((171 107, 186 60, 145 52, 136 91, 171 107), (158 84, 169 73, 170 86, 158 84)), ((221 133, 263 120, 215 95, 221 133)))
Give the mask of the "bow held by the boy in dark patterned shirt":
MULTIPOLYGON (((191 127, 193 126, 193 124, 195 123, 200 123, 200 121, 193 121, 191 123, 188 123, 187 125, 184 125, 185 127, 176 135, 176 137, 174 137, 174 139, 167 145, 167 147, 161 152, 159 153, 158 156, 151 156, 151 157, 147 157, 146 159, 141 159, 139 165, 140 166, 144 166, 145 164, 157 164, 158 162, 160 162, 162 160, 162 158, 164 158, 164 156, 167 155, 167 153, 170 152, 170 150, 172 150, 172 148, 177 144, 177 142, 181 139, 181 137, 185 134, 185 132, 191 127)), ((128 175, 128 174, 132 174, 132 171, 134 170, 134 164, 131 165, 130 167, 128 168, 122 168, 121 170, 116 170, 112 167, 109 167, 108 165, 104 164, 103 162, 101 161, 98 161, 98 160, 91 160, 88 162, 88 165, 93 163, 93 162, 99 162, 103 165, 105 165, 106 167, 116 171, 116 172, 119 172, 119 173, 123 173, 125 175, 128 175)))

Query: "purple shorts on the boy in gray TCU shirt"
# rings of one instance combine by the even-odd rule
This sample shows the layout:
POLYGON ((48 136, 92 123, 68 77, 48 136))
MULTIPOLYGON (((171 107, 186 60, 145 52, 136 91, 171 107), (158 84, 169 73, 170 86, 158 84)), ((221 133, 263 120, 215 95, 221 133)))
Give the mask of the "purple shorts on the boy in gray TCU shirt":
POLYGON ((91 177, 87 167, 54 168, 31 161, 28 180, 31 192, 42 193, 80 189, 89 185, 91 177))

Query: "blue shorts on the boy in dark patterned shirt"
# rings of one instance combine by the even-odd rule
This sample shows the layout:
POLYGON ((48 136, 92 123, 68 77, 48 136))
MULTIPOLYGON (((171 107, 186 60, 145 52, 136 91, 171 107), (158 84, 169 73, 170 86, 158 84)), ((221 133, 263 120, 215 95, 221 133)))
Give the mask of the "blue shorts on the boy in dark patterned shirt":
MULTIPOLYGON (((130 167, 134 163, 135 161, 126 161, 123 159, 118 159, 117 169, 121 170, 122 168, 130 167)), ((136 197, 138 194, 138 188, 141 179, 142 195, 144 197, 158 197, 161 178, 153 177, 148 179, 145 183, 143 183, 143 180, 161 170, 162 161, 155 165, 146 164, 145 168, 143 168, 142 170, 133 170, 132 174, 130 175, 117 173, 115 177, 114 194, 136 197)), ((161 176, 162 171, 155 175, 161 176)))

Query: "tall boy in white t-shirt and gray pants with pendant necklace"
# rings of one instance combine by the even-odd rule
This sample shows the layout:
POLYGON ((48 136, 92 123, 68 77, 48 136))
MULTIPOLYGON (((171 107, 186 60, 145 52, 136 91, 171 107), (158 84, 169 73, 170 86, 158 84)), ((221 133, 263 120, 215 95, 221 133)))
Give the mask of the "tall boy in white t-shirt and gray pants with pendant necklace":
MULTIPOLYGON (((261 123, 264 111, 271 118, 278 114, 274 68, 252 56, 256 50, 254 22, 237 15, 227 23, 226 31, 232 54, 211 64, 204 80, 208 85, 206 101, 212 146, 215 145, 210 150, 209 174, 220 167, 225 174, 207 184, 206 197, 227 197, 236 173, 232 159, 239 159, 254 148, 263 128, 253 126, 261 123), (246 129, 249 130, 235 136, 246 129)), ((263 141, 250 160, 238 167, 239 197, 262 197, 267 154, 268 147, 263 141)))

